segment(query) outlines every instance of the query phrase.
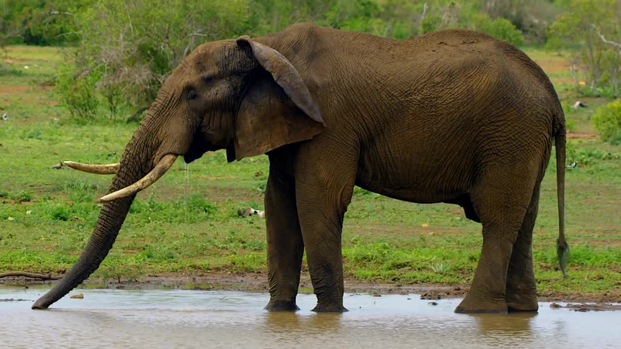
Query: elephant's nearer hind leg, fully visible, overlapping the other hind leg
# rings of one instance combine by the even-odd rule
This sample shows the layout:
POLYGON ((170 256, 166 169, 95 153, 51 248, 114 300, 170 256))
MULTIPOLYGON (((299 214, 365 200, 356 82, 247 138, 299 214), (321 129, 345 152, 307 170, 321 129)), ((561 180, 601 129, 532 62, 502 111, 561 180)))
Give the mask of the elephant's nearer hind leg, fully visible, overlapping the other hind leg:
POLYGON ((470 291, 455 312, 507 312, 507 270, 535 180, 506 168, 487 173, 473 190, 483 224, 483 248, 470 291))

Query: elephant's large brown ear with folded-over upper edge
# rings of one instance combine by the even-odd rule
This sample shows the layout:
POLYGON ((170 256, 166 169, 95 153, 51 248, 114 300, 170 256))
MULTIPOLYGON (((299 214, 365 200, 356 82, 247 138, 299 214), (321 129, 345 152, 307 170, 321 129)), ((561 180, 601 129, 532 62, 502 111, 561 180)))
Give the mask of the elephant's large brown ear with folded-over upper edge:
POLYGON ((248 50, 263 69, 250 82, 237 113, 235 160, 319 134, 324 129, 319 107, 291 62, 247 36, 237 39, 237 45, 248 50))

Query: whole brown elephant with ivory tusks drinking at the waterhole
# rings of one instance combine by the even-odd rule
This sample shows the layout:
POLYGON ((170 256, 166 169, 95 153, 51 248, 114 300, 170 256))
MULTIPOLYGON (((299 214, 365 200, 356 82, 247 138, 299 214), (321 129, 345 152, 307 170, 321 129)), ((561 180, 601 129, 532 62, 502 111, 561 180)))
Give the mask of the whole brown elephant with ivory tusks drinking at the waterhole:
POLYGON ((270 301, 297 310, 306 251, 315 312, 345 312, 341 234, 355 186, 407 202, 459 205, 482 225, 455 312, 538 310, 532 233, 556 148, 561 270, 566 127, 550 79, 524 52, 473 30, 404 40, 298 23, 202 43, 166 78, 119 163, 78 261, 33 304, 46 309, 96 270, 138 191, 183 156, 267 155, 270 301))

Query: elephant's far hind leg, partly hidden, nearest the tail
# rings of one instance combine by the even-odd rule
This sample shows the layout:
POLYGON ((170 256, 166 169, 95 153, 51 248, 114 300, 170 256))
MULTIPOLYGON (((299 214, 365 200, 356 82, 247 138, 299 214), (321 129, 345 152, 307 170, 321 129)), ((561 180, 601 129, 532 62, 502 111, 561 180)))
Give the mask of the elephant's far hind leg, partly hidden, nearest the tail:
POLYGON ((533 227, 535 227, 535 219, 537 219, 539 190, 540 183, 537 183, 511 252, 505 295, 509 311, 537 311, 539 308, 532 252, 533 227))

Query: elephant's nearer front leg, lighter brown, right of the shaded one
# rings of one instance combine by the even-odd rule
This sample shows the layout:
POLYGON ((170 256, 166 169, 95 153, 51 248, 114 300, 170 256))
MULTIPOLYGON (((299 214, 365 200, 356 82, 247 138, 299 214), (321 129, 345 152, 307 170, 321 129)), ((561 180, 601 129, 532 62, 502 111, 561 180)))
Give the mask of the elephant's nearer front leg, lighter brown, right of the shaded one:
POLYGON ((347 311, 343 307, 341 233, 343 215, 353 194, 357 163, 348 156, 330 159, 335 149, 320 152, 323 156, 317 158, 309 156, 302 166, 304 172, 296 173, 297 211, 317 296, 317 306, 313 309, 316 312, 347 311))

